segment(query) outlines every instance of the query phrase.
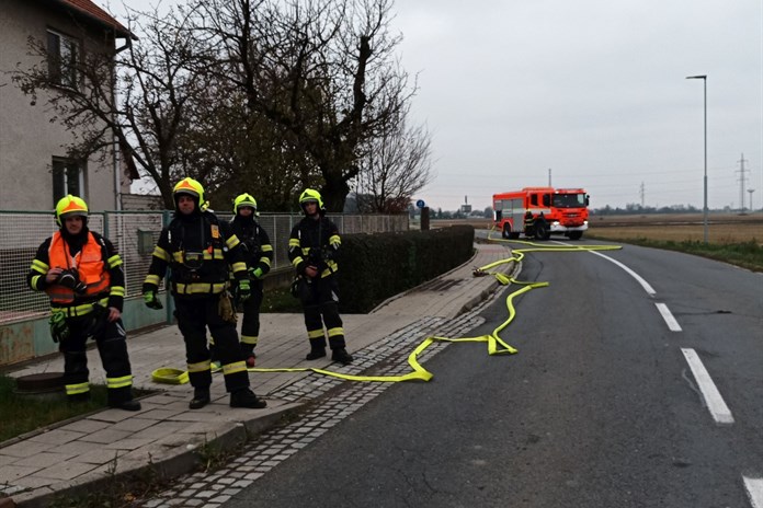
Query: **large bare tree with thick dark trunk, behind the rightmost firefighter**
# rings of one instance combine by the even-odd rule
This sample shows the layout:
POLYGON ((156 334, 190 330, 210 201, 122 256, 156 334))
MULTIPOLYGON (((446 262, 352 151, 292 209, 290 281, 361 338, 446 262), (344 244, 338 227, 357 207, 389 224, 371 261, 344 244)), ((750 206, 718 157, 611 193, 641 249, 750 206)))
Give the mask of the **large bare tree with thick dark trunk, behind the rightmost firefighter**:
POLYGON ((394 60, 390 0, 193 0, 206 69, 289 139, 330 210, 341 211, 358 150, 413 95, 394 60))

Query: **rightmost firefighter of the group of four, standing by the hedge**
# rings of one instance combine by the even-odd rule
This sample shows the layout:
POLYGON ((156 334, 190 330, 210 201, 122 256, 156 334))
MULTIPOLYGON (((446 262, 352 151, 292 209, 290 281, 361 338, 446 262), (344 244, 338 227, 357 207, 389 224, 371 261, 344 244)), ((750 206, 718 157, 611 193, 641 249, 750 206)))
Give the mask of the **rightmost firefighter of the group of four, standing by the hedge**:
POLYGON ((352 362, 345 349, 344 328, 339 315, 339 285, 335 256, 342 241, 337 226, 326 218, 323 200, 317 190, 305 189, 299 196, 305 212, 288 240, 288 258, 299 277, 299 299, 305 313, 305 326, 310 340, 308 360, 326 356, 326 334, 329 336, 331 359, 352 362))

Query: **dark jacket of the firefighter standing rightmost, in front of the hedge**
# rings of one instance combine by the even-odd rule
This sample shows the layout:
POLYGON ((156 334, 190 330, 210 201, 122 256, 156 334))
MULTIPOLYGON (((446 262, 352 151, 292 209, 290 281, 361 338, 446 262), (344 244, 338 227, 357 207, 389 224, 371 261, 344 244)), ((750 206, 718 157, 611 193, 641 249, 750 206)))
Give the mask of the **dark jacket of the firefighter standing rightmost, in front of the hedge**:
POLYGON ((288 239, 288 259, 305 275, 309 265, 318 267, 320 277, 328 277, 339 269, 337 254, 342 240, 337 226, 326 217, 316 220, 305 217, 292 228, 288 239))

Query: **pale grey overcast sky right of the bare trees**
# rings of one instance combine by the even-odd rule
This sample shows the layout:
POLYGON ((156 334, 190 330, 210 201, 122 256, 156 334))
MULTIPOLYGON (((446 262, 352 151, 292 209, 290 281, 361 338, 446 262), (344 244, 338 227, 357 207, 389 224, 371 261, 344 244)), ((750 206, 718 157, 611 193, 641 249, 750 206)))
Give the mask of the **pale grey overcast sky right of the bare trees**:
POLYGON ((418 73, 413 123, 432 134, 436 173, 415 198, 482 209, 494 193, 547 185, 550 170, 594 208, 702 208, 703 81, 685 78, 706 74, 708 205, 736 208, 743 194, 750 206, 743 153, 760 209, 762 4, 398 0, 401 61, 418 73))

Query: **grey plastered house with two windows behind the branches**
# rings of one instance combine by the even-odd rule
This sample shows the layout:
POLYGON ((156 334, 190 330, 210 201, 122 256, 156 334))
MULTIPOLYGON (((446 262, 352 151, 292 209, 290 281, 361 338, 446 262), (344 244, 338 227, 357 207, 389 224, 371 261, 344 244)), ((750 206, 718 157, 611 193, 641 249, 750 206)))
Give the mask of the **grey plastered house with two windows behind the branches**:
POLYGON ((122 209, 138 175, 121 163, 118 147, 88 160, 67 158, 75 137, 52 120, 46 92, 33 100, 9 72, 46 66, 61 88, 84 86, 76 68, 82 55, 115 54, 134 36, 90 0, 2 0, 0 12, 0 209, 52 210, 66 194, 81 196, 91 210, 122 209), (30 41, 44 44, 43 66, 30 41))

